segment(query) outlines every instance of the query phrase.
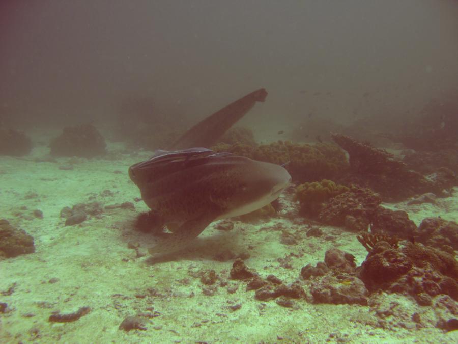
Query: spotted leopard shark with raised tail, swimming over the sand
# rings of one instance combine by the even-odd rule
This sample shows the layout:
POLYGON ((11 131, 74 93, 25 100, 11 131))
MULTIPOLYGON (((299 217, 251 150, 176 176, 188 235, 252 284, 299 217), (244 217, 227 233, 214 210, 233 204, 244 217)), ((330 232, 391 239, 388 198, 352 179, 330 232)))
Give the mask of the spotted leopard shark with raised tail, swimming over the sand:
POLYGON ((129 168, 142 200, 171 232, 157 238, 150 254, 180 251, 210 223, 251 213, 288 187, 291 176, 282 166, 206 148, 266 96, 265 89, 246 95, 196 124, 169 150, 129 168))

